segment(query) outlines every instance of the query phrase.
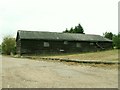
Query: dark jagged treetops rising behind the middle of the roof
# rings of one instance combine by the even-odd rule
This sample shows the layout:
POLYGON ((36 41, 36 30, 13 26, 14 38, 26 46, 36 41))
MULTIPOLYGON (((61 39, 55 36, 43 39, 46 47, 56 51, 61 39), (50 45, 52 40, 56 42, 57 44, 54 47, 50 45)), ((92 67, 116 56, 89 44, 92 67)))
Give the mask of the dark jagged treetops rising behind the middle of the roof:
POLYGON ((82 26, 80 24, 78 24, 78 26, 75 26, 75 28, 71 27, 70 30, 68 30, 66 28, 66 30, 63 31, 63 33, 81 33, 81 34, 84 34, 84 30, 83 30, 82 26))

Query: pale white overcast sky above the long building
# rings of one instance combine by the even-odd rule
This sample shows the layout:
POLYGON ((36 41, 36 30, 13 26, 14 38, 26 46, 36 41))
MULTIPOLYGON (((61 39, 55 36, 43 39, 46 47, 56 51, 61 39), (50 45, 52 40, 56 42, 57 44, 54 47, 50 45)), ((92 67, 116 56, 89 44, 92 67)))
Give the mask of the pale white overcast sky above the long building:
POLYGON ((86 34, 117 34, 118 1, 0 0, 0 43, 17 30, 62 32, 78 23, 86 34))

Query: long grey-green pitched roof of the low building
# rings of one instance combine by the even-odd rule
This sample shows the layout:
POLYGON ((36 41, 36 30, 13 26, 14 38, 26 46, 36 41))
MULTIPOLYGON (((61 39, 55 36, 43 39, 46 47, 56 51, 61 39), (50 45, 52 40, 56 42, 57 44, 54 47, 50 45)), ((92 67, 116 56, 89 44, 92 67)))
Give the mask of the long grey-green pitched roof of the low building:
POLYGON ((109 41, 109 42, 112 42, 112 40, 104 38, 100 35, 91 35, 91 34, 18 30, 17 38, 18 38, 18 35, 19 35, 20 39, 67 40, 67 41, 109 41))

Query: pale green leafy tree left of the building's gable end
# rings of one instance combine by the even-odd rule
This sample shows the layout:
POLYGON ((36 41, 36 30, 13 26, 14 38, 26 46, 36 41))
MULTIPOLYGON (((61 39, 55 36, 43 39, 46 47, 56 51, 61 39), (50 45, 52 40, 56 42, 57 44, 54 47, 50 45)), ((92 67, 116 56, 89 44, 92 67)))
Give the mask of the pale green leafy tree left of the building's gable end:
POLYGON ((4 37, 2 42, 2 53, 10 55, 11 53, 15 53, 15 51, 15 38, 11 36, 4 37))

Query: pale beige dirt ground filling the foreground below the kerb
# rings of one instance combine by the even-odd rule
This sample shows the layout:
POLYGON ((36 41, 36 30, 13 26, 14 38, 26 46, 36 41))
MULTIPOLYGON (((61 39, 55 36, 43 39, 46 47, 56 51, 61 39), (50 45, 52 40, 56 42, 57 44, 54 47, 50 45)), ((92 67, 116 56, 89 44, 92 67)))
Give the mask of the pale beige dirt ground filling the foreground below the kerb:
MULTIPOLYGON (((3 88, 117 88, 118 69, 3 56, 3 88)), ((1 67, 2 66, 2 67, 1 67)), ((1 82, 2 81, 2 82, 1 82)))

